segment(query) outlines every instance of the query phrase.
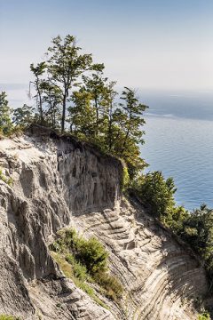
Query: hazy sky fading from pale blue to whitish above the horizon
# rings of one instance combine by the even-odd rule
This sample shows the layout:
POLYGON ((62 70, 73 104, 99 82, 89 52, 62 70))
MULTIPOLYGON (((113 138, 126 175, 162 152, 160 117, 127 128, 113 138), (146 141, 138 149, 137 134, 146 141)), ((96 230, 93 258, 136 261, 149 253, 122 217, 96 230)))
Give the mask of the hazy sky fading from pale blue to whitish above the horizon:
POLYGON ((0 0, 0 84, 68 33, 118 85, 213 90, 212 0, 0 0))

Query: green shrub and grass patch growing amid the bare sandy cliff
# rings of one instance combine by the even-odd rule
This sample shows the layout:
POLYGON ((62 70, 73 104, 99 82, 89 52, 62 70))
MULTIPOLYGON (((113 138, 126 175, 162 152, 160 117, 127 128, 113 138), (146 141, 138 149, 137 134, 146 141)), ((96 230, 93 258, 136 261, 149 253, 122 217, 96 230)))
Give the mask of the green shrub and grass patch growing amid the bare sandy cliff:
POLYGON ((102 307, 106 308, 106 305, 99 300, 90 283, 98 284, 100 292, 108 299, 117 301, 122 297, 122 284, 108 273, 108 253, 96 238, 87 240, 78 236, 74 228, 66 228, 59 231, 50 249, 65 276, 102 307))

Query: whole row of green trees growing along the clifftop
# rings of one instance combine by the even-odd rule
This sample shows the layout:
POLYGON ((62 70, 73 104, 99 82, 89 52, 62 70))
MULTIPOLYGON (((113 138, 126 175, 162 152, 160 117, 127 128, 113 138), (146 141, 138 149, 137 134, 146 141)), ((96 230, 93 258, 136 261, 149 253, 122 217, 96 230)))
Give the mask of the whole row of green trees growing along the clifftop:
POLYGON ((75 36, 53 38, 45 57, 30 65, 34 108, 24 105, 12 112, 5 92, 1 93, 2 132, 8 134, 14 126, 24 128, 31 123, 69 132, 124 159, 130 176, 134 176, 146 165, 139 144, 144 143, 147 106, 128 87, 119 95, 114 89, 116 82, 105 76, 104 64, 94 63, 91 53, 83 53, 75 36))

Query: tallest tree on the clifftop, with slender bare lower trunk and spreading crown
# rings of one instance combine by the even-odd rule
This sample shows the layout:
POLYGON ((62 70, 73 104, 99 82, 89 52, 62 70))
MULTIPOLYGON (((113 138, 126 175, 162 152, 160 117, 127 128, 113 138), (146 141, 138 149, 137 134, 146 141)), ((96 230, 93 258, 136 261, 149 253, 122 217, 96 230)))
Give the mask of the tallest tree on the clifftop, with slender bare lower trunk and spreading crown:
POLYGON ((51 84, 57 86, 62 95, 61 132, 65 130, 67 99, 69 91, 76 85, 79 76, 91 66, 91 54, 80 54, 74 36, 53 38, 48 49, 47 70, 51 84))

